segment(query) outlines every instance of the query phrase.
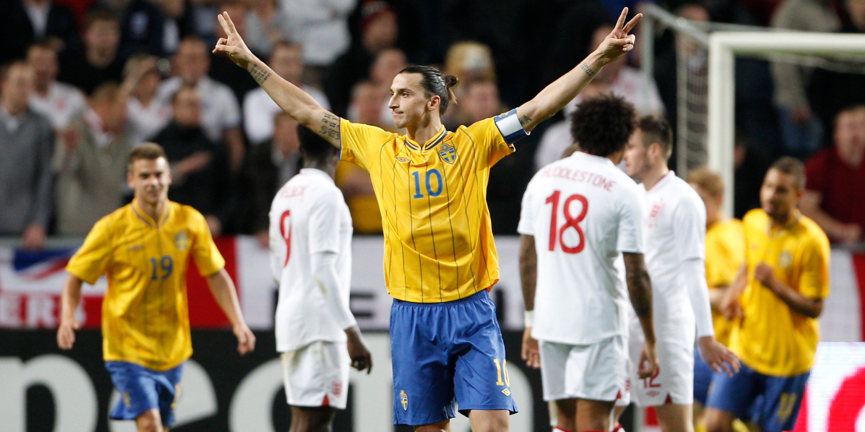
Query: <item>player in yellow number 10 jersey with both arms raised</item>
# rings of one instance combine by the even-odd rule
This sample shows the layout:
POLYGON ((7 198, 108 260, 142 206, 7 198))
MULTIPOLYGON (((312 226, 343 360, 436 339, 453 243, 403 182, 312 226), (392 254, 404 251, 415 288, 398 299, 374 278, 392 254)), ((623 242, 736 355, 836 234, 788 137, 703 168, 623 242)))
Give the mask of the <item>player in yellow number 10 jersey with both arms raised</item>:
POLYGON ((552 117, 601 67, 633 48, 627 8, 605 41, 580 65, 529 102, 458 130, 441 124, 458 79, 433 67, 410 66, 391 84, 388 102, 397 129, 353 124, 274 74, 247 48, 227 13, 218 20, 225 53, 252 74, 292 118, 369 172, 381 210, 385 277, 394 296, 391 352, 394 424, 448 429, 459 410, 475 430, 508 429, 516 412, 496 310, 487 290, 498 281, 486 186, 490 168, 514 143, 552 117))

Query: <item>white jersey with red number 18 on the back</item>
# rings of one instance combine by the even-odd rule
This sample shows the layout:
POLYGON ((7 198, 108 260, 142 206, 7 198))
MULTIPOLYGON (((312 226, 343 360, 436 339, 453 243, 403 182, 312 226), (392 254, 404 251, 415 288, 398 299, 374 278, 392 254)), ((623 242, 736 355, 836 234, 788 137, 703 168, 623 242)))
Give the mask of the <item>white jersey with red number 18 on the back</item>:
POLYGON ((643 224, 642 187, 606 157, 576 152, 538 171, 517 230, 535 237, 535 339, 587 345, 626 334, 621 252, 643 253, 643 224))

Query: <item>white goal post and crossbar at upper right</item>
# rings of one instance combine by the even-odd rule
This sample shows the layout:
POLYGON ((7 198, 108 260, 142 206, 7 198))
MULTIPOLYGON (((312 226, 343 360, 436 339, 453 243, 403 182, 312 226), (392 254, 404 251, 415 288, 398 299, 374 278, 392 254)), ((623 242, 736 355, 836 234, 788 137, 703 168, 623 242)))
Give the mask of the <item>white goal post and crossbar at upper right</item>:
POLYGON ((724 212, 733 214, 735 56, 772 54, 863 55, 865 35, 847 33, 720 31, 708 36, 708 168, 719 173, 724 212))

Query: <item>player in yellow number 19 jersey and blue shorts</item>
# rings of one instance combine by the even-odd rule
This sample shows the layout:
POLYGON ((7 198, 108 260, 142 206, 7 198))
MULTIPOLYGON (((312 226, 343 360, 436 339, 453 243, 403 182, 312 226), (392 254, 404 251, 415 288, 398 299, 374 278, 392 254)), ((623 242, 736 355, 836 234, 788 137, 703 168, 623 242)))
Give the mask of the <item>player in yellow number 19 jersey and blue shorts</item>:
POLYGON ((171 176, 163 149, 154 143, 132 149, 127 180, 135 199, 99 219, 67 264, 57 343, 72 348, 81 284, 106 275, 102 352, 123 395, 111 418, 135 419, 139 431, 163 430, 174 421, 176 386, 183 361, 192 355, 186 299, 190 257, 232 322, 241 354, 253 350, 255 336, 243 320, 234 283, 204 217, 168 200, 171 176))

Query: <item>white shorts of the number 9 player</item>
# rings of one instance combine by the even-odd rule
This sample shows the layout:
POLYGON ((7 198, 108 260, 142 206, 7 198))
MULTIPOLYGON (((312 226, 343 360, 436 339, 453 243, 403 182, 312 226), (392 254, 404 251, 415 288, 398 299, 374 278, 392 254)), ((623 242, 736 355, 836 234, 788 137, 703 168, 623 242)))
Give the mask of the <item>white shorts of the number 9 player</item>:
POLYGON ((317 340, 280 359, 289 405, 345 410, 351 363, 345 342, 317 340))

